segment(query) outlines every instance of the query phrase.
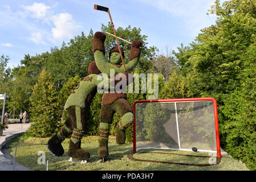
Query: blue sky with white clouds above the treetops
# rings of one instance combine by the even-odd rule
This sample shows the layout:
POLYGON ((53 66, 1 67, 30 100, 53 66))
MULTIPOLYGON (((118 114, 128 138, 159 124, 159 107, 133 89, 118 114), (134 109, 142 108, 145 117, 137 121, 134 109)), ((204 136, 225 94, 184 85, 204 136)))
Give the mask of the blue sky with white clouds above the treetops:
POLYGON ((206 15, 214 1, 1 0, 0 55, 8 55, 8 66, 13 68, 28 53, 34 56, 61 47, 82 31, 87 36, 91 28, 100 31, 109 16, 94 10, 94 4, 109 7, 116 28, 140 27, 141 34, 148 36, 148 46, 156 46, 160 53, 166 46, 177 50, 215 23, 216 16, 206 15))

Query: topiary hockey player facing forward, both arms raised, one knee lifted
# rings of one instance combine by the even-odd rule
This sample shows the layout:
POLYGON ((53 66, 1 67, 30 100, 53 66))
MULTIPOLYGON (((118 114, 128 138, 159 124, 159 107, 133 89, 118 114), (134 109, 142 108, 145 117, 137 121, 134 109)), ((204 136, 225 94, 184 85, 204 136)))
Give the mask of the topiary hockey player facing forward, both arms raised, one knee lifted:
MULTIPOLYGON (((125 72, 124 66, 120 65, 121 56, 119 49, 113 47, 109 51, 109 59, 111 63, 105 59, 105 34, 103 32, 96 32, 94 35, 94 57, 97 68, 100 72, 111 76, 111 69, 115 70, 115 74, 124 73, 128 82, 128 73, 125 72)), ((131 44, 131 53, 129 55, 129 63, 125 64, 127 71, 132 71, 135 68, 137 62, 140 59, 140 53, 142 43, 139 40, 133 40, 131 44)), ((124 57, 124 52, 121 50, 124 57)), ((104 162, 104 158, 108 158, 108 135, 109 135, 109 126, 112 123, 113 114, 117 112, 121 119, 116 125, 116 142, 118 144, 124 144, 125 142, 125 129, 128 126, 131 126, 133 123, 133 109, 127 101, 126 93, 104 93, 101 101, 101 111, 100 111, 100 126, 99 126, 99 148, 98 155, 104 162)))

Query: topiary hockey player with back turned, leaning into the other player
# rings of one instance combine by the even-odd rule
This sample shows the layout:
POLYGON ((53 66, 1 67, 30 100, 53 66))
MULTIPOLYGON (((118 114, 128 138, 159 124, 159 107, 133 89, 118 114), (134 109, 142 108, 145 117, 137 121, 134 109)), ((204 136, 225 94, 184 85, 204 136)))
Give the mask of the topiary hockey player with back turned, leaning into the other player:
POLYGON ((87 124, 86 109, 90 106, 97 92, 97 85, 101 82, 100 79, 97 79, 99 76, 97 74, 100 71, 97 69, 95 61, 88 66, 88 73, 90 75, 83 78, 66 101, 64 109, 67 110, 68 117, 64 126, 54 137, 48 140, 47 148, 55 156, 64 154, 61 143, 71 135, 68 156, 77 160, 90 158, 89 152, 81 148, 81 139, 87 124))

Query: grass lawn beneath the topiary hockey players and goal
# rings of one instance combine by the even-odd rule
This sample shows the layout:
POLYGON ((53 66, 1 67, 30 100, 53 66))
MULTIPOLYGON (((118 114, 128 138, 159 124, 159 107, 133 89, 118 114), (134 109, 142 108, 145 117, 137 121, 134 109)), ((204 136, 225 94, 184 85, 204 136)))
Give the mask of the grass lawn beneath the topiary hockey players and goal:
MULTIPOLYGON (((100 159, 97 155, 97 137, 89 136, 83 137, 82 148, 90 152, 91 157, 87 160, 87 164, 79 164, 68 162, 68 142, 69 139, 63 141, 62 146, 65 150, 63 156, 55 158, 50 154, 46 148, 46 144, 49 138, 25 138, 24 136, 17 137, 11 142, 6 144, 6 148, 9 148, 10 154, 14 156, 15 146, 17 148, 16 159, 23 166, 30 167, 33 170, 46 170, 46 164, 38 164, 39 151, 44 151, 46 154, 46 160, 48 160, 48 170, 122 170, 122 171, 245 171, 249 170, 244 163, 235 160, 232 156, 227 155, 221 159, 221 163, 214 166, 197 167, 197 166, 183 166, 178 164, 164 164, 164 163, 153 163, 153 162, 140 162, 131 160, 128 155, 132 153, 132 143, 123 145, 116 144, 115 137, 109 137, 109 162, 98 163, 100 159)), ((166 151, 176 154, 190 154, 190 155, 206 155, 206 152, 187 152, 187 151, 166 151)), ((169 155, 169 154, 151 154, 151 153, 136 153, 133 155, 137 159, 149 159, 149 160, 162 160, 169 162, 180 162, 180 163, 208 163, 209 158, 196 158, 182 155, 169 155)))

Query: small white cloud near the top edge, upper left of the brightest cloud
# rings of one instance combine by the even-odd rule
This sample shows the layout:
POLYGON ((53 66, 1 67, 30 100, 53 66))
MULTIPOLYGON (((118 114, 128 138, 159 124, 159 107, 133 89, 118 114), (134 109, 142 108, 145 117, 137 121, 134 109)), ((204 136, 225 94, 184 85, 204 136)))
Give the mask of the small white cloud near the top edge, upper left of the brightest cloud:
POLYGON ((25 10, 29 11, 32 18, 44 18, 46 17, 47 10, 50 10, 50 6, 44 5, 44 3, 34 3, 32 6, 23 6, 25 10))

